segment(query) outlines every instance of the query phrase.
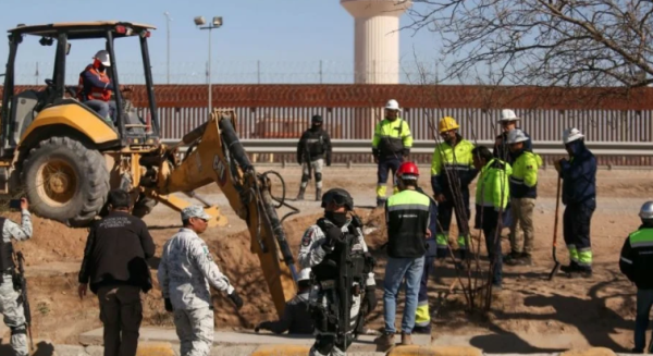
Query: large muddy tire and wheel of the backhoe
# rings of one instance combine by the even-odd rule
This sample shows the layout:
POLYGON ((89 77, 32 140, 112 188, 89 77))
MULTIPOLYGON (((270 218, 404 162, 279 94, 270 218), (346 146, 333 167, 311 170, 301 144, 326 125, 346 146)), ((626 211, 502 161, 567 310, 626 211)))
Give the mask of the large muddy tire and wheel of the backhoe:
POLYGON ((93 222, 110 189, 102 155, 70 137, 51 137, 32 148, 21 177, 35 213, 73 228, 93 222))

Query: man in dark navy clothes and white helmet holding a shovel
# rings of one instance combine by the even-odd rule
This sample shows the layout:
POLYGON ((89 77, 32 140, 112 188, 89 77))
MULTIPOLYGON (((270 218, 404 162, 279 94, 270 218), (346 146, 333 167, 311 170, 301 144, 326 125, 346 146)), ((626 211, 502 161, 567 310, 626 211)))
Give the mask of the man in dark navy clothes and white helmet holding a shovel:
POLYGON ((584 145, 584 135, 578 128, 567 128, 563 143, 569 159, 555 162, 563 179, 563 235, 569 250, 569 266, 560 270, 576 277, 592 275, 592 246, 590 222, 596 209, 596 158, 584 145))

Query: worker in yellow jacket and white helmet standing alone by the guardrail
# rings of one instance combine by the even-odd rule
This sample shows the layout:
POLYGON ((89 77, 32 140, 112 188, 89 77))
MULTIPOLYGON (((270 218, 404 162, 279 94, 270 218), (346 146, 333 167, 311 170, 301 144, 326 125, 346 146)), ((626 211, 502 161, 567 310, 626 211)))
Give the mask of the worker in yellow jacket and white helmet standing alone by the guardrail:
MULTIPOLYGON (((399 118, 401 112, 397 100, 391 99, 385 103, 385 119, 377 124, 372 138, 372 155, 377 171, 377 207, 385 205, 385 191, 387 171, 396 175, 399 164, 410 154, 412 136, 408 123, 399 118)), ((394 179, 394 193, 397 193, 397 181, 394 179)))

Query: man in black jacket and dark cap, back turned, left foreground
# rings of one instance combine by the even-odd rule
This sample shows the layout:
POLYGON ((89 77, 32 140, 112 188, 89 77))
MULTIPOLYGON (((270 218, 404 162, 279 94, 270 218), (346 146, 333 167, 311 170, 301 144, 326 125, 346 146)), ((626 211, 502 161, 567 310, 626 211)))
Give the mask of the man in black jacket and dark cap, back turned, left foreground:
POLYGON ((90 291, 98 296, 104 356, 134 356, 143 320, 140 291, 152 287, 146 260, 155 255, 155 243, 145 222, 130 214, 127 192, 111 191, 108 205, 109 214, 88 234, 78 293, 84 298, 90 282, 90 291))

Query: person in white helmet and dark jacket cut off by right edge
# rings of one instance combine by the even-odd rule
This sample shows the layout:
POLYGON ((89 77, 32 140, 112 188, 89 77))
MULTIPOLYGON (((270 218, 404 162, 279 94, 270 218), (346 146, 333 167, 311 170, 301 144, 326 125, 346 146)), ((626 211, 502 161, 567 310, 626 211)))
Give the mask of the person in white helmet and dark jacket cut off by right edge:
MULTIPOLYGON (((642 225, 631 233, 621 248, 619 269, 637 285, 637 317, 634 318, 636 354, 643 354, 653 306, 653 201, 646 201, 639 213, 642 225)), ((649 346, 649 353, 653 347, 649 346)))

